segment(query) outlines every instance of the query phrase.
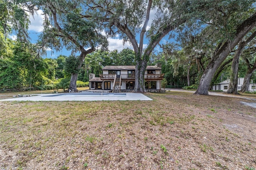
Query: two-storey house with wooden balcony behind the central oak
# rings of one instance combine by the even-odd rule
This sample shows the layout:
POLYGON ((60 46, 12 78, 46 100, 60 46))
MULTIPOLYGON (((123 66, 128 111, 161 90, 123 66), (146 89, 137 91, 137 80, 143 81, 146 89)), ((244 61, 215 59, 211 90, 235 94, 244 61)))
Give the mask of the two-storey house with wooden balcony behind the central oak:
MULTIPOLYGON (((100 77, 92 77, 90 82, 91 90, 112 90, 113 92, 128 92, 134 90, 135 84, 135 66, 107 65, 102 69, 103 73, 100 77)), ((157 66, 147 66, 144 79, 145 88, 149 92, 157 92, 161 90, 161 80, 164 74, 161 68, 157 66)))

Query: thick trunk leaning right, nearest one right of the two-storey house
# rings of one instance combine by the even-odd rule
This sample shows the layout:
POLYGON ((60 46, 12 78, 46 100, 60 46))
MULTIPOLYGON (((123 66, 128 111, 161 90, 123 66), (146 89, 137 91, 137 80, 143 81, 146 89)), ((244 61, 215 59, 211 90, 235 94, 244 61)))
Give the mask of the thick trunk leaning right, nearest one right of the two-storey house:
POLYGON ((240 24, 240 26, 238 26, 238 28, 236 29, 236 36, 234 37, 234 39, 230 42, 225 42, 218 50, 216 55, 212 57, 212 60, 204 70, 204 73, 200 79, 198 89, 194 94, 208 95, 208 89, 212 81, 212 77, 214 76, 214 73, 216 72, 218 67, 226 59, 230 51, 238 44, 238 42, 240 42, 240 40, 242 40, 242 38, 244 38, 244 36, 255 26, 256 13, 254 13, 250 18, 242 22, 242 24, 240 24))

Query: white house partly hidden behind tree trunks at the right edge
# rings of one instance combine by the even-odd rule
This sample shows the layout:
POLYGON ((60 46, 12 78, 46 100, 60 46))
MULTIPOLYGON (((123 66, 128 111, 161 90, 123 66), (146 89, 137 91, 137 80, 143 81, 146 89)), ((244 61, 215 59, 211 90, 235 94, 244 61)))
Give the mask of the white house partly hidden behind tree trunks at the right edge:
MULTIPOLYGON (((238 78, 238 87, 237 90, 240 91, 243 84, 244 84, 244 78, 238 78)), ((212 90, 222 90, 222 91, 228 91, 228 85, 229 85, 229 79, 226 79, 220 83, 216 83, 212 86, 212 90)), ((256 83, 250 83, 248 91, 256 91, 256 83)))

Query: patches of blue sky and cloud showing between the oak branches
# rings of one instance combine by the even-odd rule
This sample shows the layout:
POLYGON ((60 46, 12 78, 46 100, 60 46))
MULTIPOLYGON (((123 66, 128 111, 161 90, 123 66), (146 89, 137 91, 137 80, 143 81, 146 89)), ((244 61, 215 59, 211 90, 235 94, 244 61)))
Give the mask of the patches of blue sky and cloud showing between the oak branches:
MULTIPOLYGON (((43 20, 44 20, 44 15, 42 15, 43 12, 42 10, 38 10, 38 15, 34 15, 34 18, 32 16, 30 16, 30 26, 28 29, 28 33, 29 36, 31 38, 31 42, 32 43, 36 43, 38 40, 38 36, 40 35, 40 32, 42 32, 43 27, 43 20)), ((148 23, 148 28, 150 28, 151 25, 151 21, 154 18, 154 12, 151 12, 150 15, 150 21, 148 23)), ((137 35, 138 39, 139 39, 139 35, 137 35)), ((16 36, 15 35, 11 35, 10 38, 15 39, 16 36)), ((166 40, 162 40, 163 42, 166 42, 166 40)), ((126 49, 126 48, 132 48, 132 45, 130 45, 129 42, 126 42, 124 45, 122 43, 122 39, 119 39, 119 36, 117 35, 116 38, 108 38, 108 42, 109 42, 109 46, 108 49, 109 51, 113 51, 114 49, 117 49, 118 51, 122 51, 122 49, 126 49)), ((139 41, 138 41, 139 43, 139 41)), ((144 40, 144 47, 146 47, 146 43, 147 41, 144 40)), ((159 47, 156 47, 156 50, 159 47)), ((47 49, 47 55, 46 56, 42 56, 43 58, 57 58, 59 55, 70 55, 71 51, 67 51, 66 49, 62 49, 62 51, 55 51, 54 49, 47 49)))

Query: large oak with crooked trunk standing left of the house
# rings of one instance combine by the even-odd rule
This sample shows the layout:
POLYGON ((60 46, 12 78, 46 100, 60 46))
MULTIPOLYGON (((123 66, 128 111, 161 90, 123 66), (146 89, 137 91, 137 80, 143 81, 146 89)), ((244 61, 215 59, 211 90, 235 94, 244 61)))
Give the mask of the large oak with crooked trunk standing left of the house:
MULTIPOLYGON (((101 34, 93 18, 87 16, 88 10, 84 1, 66 0, 36 0, 33 2, 42 9, 45 15, 44 30, 41 43, 44 47, 50 47, 60 51, 62 48, 72 50, 70 65, 76 63, 69 70, 71 73, 70 89, 76 89, 78 71, 87 54, 96 48, 107 49, 108 42, 101 34), (74 61, 76 60, 76 61, 74 61)), ((33 10, 31 10, 33 12, 33 10)))

